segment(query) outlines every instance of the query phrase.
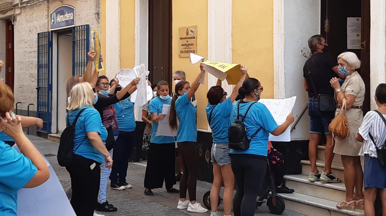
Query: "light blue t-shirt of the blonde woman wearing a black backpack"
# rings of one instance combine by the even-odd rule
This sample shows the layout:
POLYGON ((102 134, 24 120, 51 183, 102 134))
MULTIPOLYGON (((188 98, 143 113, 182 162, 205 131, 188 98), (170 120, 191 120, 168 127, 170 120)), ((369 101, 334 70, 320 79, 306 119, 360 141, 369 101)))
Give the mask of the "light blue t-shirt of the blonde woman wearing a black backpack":
POLYGON ((75 125, 74 150, 76 148, 78 149, 76 149, 74 154, 103 163, 105 161, 105 156, 98 152, 87 138, 88 132, 98 132, 103 143, 106 144, 107 130, 102 124, 99 112, 88 106, 84 106, 78 110, 71 110, 67 113, 68 122, 69 124, 73 124, 76 115, 78 115, 78 112, 80 112, 81 109, 86 110, 80 114, 75 125))

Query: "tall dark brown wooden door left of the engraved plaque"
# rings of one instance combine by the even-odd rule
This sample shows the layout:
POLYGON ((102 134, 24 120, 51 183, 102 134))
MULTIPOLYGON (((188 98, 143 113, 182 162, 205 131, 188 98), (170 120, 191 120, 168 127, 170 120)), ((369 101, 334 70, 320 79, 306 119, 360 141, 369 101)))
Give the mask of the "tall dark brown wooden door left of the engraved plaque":
POLYGON ((149 0, 150 81, 171 84, 171 0, 149 0))

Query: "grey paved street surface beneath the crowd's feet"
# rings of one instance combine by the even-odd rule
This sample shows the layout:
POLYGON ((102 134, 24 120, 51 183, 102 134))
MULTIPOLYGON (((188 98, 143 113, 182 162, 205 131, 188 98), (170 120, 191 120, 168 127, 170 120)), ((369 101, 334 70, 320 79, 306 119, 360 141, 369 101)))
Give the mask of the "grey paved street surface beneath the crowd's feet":
MULTIPOLYGON (((43 139, 41 137, 29 136, 34 145, 43 152, 51 163, 52 168, 55 170, 64 190, 66 190, 70 184, 71 179, 66 168, 59 166, 56 159, 59 144, 56 142, 43 139)), ((117 216, 117 215, 193 215, 193 216, 207 216, 208 213, 189 213, 185 210, 177 209, 178 194, 169 194, 166 189, 153 189, 154 196, 144 195, 144 177, 146 170, 146 162, 130 163, 127 171, 127 182, 133 185, 133 188, 125 189, 123 191, 116 191, 107 189, 107 200, 118 208, 117 212, 113 213, 101 213, 105 216, 117 216)), ((179 185, 174 186, 179 188, 179 185)), ((203 181, 197 181, 197 200, 202 205, 202 197, 205 192, 210 190, 212 184, 203 181)), ((223 214, 222 204, 219 206, 219 211, 223 214)), ((256 209, 255 215, 268 216, 273 215, 269 213, 269 209, 266 205, 263 205, 256 209)), ((285 210, 284 216, 302 216, 302 214, 295 213, 293 211, 285 210)))

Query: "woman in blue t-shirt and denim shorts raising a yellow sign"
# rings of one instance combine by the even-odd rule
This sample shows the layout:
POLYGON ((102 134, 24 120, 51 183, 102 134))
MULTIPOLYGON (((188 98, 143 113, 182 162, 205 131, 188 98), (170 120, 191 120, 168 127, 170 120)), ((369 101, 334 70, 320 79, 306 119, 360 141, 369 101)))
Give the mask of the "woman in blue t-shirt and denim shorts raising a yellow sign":
MULTIPOLYGON (((237 66, 238 67, 238 66, 237 66)), ((230 167, 229 147, 228 147, 228 127, 232 103, 239 95, 239 88, 247 77, 247 68, 240 65, 242 76, 235 85, 232 94, 227 98, 227 92, 221 87, 221 80, 217 80, 217 85, 208 90, 208 105, 206 108, 207 118, 210 129, 212 129, 213 145, 211 158, 213 162, 213 186, 210 190, 211 216, 219 216, 217 212, 218 197, 222 184, 224 190, 224 216, 232 212, 232 199, 235 177, 230 167)))

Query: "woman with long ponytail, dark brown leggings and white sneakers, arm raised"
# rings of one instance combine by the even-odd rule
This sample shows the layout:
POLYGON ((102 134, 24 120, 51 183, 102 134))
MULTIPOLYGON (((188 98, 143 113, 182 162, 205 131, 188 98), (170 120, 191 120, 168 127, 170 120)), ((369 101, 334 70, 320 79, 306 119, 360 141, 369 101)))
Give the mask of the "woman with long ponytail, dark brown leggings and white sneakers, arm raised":
POLYGON ((178 209, 188 209, 190 212, 207 212, 196 201, 196 182, 198 176, 198 152, 196 149, 197 108, 190 102, 190 98, 196 93, 200 79, 204 75, 203 64, 200 65, 200 74, 196 77, 192 85, 189 82, 181 81, 175 87, 175 94, 171 101, 169 124, 173 131, 177 133, 178 151, 183 156, 184 173, 179 183, 178 209), (177 123, 179 120, 179 126, 177 123), (186 199, 186 190, 189 191, 190 201, 186 199))

